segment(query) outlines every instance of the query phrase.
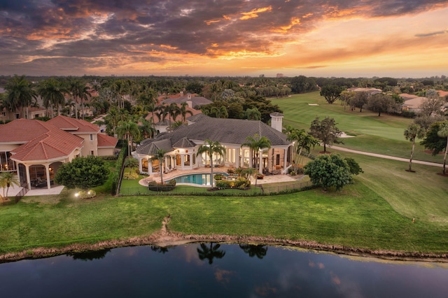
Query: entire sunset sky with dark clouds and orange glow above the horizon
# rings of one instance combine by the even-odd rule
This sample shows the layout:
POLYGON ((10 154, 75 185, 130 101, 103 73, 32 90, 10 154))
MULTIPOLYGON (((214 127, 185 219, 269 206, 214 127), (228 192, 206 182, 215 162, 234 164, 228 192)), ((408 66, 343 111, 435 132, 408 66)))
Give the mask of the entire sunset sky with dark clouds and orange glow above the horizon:
POLYGON ((0 75, 448 75, 448 1, 0 0, 0 75))

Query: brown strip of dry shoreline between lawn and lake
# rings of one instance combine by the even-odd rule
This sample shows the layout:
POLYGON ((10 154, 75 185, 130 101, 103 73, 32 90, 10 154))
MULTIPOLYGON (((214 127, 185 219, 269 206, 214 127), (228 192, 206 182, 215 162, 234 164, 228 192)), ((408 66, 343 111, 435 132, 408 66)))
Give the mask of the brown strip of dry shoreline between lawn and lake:
POLYGON ((188 243, 216 242, 216 243, 253 243, 270 246, 285 246, 291 248, 304 248, 318 250, 339 255, 357 257, 374 257, 379 260, 414 261, 414 262, 443 262, 448 263, 448 253, 419 253, 399 250, 370 250, 365 248, 351 248, 322 244, 316 241, 293 241, 288 239, 274 239, 258 236, 230 236, 230 235, 184 235, 167 230, 169 218, 162 222, 162 229, 149 236, 132 237, 129 239, 117 239, 100 241, 94 244, 71 244, 62 248, 33 248, 22 250, 18 253, 5 253, 0 255, 0 264, 19 260, 38 259, 43 257, 55 257, 67 253, 81 253, 88 250, 103 250, 126 246, 179 246, 188 243))

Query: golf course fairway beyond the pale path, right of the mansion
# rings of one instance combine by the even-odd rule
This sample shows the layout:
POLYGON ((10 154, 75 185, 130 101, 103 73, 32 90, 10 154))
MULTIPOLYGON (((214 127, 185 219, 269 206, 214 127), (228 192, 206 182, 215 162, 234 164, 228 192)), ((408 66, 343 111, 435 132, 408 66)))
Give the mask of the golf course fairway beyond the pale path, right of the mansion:
MULTIPOLYGON (((403 135, 405 128, 412 120, 398 116, 382 114, 363 110, 362 113, 349 111, 340 104, 327 104, 318 92, 293 95, 283 99, 273 99, 274 104, 283 110, 283 126, 309 130, 311 121, 319 116, 335 118, 337 127, 346 134, 356 136, 354 138, 342 139, 342 147, 354 150, 374 152, 396 157, 409 158, 412 145, 403 135), (309 106, 318 104, 318 106, 309 106)), ((339 146, 339 145, 338 145, 339 146)), ((414 159, 427 162, 442 163, 442 155, 433 157, 424 152, 423 146, 417 144, 414 159)))

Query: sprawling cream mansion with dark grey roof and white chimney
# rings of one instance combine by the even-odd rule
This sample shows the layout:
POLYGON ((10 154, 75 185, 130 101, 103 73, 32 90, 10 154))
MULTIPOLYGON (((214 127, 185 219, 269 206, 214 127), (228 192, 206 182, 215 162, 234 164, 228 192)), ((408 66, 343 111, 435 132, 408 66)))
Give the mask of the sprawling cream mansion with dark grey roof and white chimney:
POLYGON ((151 158, 158 150, 167 150, 162 169, 165 172, 173 169, 190 170, 210 166, 210 159, 204 153, 196 156, 199 146, 206 139, 218 141, 225 147, 225 156, 214 156, 215 165, 230 167, 253 166, 252 150, 241 148, 248 136, 265 136, 271 141, 271 149, 260 154, 260 173, 263 169, 281 169, 286 172, 290 166, 290 150, 292 144, 281 132, 283 115, 272 113, 272 127, 258 120, 211 118, 197 114, 188 118, 188 126, 174 129, 173 132, 159 134, 155 139, 141 142, 132 155, 139 159, 141 173, 153 174, 160 172, 159 161, 151 158))

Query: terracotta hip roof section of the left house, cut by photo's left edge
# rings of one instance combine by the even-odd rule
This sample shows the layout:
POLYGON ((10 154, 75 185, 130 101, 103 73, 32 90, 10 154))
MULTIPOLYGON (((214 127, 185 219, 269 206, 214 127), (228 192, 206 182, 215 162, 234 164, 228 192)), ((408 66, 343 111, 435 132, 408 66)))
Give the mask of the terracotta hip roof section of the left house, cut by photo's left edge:
POLYGON ((27 143, 36 136, 45 134, 54 127, 48 122, 17 119, 0 125, 0 143, 27 143))

